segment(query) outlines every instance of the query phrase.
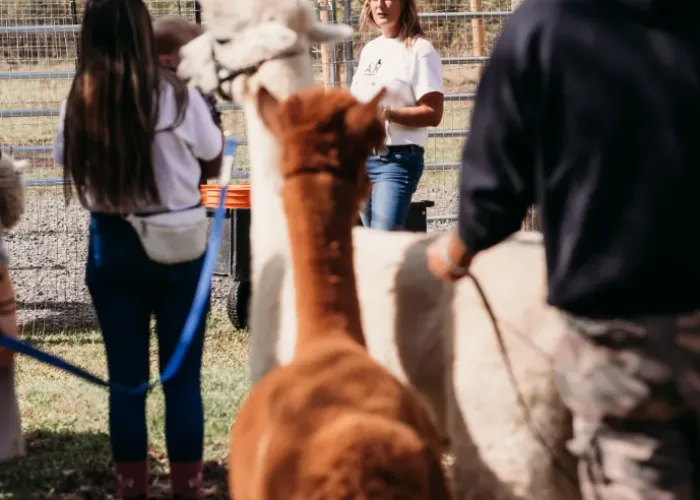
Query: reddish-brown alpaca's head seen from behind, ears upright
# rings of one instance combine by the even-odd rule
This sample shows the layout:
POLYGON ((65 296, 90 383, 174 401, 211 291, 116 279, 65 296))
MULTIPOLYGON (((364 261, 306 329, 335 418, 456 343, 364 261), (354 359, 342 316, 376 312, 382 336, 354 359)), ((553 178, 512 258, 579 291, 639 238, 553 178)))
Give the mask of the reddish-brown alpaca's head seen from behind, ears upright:
POLYGON ((366 160, 384 143, 385 129, 377 106, 380 90, 368 102, 349 91, 312 87, 280 101, 266 87, 256 96, 258 114, 280 142, 285 178, 327 172, 357 191, 358 202, 369 193, 366 160))

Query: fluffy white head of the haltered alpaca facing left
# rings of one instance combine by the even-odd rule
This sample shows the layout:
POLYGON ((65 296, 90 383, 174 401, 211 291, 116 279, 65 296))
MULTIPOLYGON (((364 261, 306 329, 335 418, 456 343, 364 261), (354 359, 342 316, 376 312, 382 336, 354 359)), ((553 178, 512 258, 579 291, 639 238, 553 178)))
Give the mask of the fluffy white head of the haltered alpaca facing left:
POLYGON ((181 49, 178 75, 211 93, 230 72, 269 60, 260 67, 263 75, 240 74, 221 84, 224 95, 237 102, 254 95, 261 80, 268 90, 283 94, 271 87, 294 77, 276 69, 286 64, 288 54, 308 57, 310 70, 311 44, 352 36, 349 25, 318 22, 309 0, 201 0, 200 5, 207 31, 181 49))

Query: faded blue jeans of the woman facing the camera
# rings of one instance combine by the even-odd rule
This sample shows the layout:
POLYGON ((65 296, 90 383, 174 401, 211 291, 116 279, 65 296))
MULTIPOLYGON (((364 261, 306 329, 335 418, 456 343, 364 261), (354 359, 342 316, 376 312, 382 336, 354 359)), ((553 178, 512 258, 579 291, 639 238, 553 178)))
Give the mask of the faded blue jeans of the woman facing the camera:
POLYGON ((370 156, 367 171, 372 195, 360 208, 362 225, 385 231, 398 231, 406 225, 411 197, 423 175, 425 150, 411 146, 390 151, 386 156, 370 156))

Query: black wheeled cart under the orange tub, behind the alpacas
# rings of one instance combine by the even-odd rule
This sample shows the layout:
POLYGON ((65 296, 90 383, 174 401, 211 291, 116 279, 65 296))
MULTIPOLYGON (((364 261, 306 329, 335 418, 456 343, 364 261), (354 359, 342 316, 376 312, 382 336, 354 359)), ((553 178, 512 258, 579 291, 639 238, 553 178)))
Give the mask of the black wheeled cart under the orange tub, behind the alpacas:
MULTIPOLYGON (((411 202, 406 221, 406 230, 426 232, 427 209, 435 202, 421 200, 411 202)), ((213 218, 215 209, 207 208, 207 216, 213 218)), ((211 221, 210 221, 211 225, 211 221)), ((358 222, 361 225, 361 222, 358 222)), ((248 327, 248 305, 250 304, 250 209, 227 209, 221 235, 221 247, 216 260, 214 274, 230 276, 233 285, 226 301, 226 311, 233 327, 243 330, 248 327)))

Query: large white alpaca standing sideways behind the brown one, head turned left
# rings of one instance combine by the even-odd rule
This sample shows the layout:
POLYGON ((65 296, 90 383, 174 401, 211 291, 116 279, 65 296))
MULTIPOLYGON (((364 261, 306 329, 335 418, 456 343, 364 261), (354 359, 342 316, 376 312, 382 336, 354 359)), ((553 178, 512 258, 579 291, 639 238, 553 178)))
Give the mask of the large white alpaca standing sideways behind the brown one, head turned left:
MULTIPOLYGON (((261 84, 279 99, 313 85, 310 44, 346 39, 351 29, 317 23, 308 0, 202 0, 201 5, 208 31, 183 48, 179 73, 205 92, 216 89, 230 71, 298 51, 222 85, 243 108, 250 148, 250 365, 258 380, 292 359, 296 320, 278 144, 253 97, 261 84), (217 74, 215 60, 226 70, 217 74)), ((558 462, 552 462, 523 418, 474 283, 446 284, 427 269, 425 248, 434 237, 354 230, 358 294, 371 355, 421 391, 449 435, 458 498, 579 498, 565 448, 571 418, 557 395, 549 359, 562 324, 544 302, 540 236, 516 235, 480 255, 473 270, 500 319, 532 426, 568 476, 559 472, 558 462)))

